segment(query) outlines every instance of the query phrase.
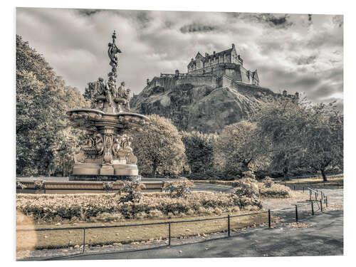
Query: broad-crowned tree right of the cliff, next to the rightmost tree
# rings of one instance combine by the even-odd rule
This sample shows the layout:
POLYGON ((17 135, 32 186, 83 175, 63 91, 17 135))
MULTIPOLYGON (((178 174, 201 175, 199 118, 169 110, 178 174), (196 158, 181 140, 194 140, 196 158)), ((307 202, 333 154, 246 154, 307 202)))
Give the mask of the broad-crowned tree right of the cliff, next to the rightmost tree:
POLYGON ((271 142, 271 168, 281 170, 288 180, 290 169, 300 164, 305 153, 310 109, 303 101, 288 96, 265 102, 252 120, 258 124, 261 135, 271 142))

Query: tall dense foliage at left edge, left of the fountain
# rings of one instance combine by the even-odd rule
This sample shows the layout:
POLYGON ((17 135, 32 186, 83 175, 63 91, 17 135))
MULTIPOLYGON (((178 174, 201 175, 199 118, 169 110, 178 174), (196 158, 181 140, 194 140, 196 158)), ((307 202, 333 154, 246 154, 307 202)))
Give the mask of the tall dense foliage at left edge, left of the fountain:
POLYGON ((63 170, 63 155, 78 149, 82 133, 69 127, 66 111, 87 105, 78 90, 66 86, 43 56, 16 36, 16 174, 63 170))

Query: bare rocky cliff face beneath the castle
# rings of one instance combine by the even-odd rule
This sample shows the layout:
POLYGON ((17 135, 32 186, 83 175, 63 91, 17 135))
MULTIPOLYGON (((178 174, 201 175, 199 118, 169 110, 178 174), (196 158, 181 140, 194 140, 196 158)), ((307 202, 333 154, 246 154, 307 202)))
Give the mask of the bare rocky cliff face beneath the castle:
POLYGON ((263 95, 274 93, 253 85, 219 86, 214 83, 164 83, 154 80, 132 98, 132 110, 168 117, 179 130, 221 132, 225 125, 247 119, 262 104, 263 95))

